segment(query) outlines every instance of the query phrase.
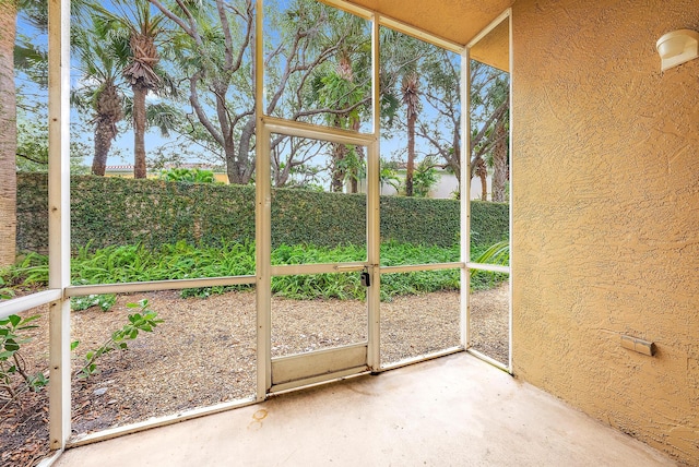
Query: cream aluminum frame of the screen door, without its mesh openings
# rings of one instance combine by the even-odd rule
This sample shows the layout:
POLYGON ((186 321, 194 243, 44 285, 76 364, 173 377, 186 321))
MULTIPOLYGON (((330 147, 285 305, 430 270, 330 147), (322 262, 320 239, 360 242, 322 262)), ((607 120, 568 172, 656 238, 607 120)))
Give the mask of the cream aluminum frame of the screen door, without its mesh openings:
POLYGON ((374 135, 310 123, 258 118, 257 192, 257 310, 258 310, 258 398, 372 371, 378 368, 379 333, 379 192, 378 143, 374 135), (306 137, 367 148, 367 259, 364 262, 272 266, 272 196, 270 139, 272 134, 306 137), (295 274, 348 273, 366 271, 371 277, 367 288, 367 342, 331 349, 272 358, 272 277, 295 274))

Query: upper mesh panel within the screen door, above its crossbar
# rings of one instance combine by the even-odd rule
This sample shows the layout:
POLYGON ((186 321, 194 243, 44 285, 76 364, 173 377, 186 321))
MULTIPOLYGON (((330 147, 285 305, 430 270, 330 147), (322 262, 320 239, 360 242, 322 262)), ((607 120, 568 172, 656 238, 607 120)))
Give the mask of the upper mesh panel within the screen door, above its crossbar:
POLYGON ((273 265, 366 261, 366 149, 272 134, 273 265))

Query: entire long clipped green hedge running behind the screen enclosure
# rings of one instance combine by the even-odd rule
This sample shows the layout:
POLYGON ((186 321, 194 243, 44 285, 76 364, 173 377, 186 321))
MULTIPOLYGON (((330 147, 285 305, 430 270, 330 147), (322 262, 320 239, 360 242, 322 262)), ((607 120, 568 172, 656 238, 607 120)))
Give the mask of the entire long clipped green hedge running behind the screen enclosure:
MULTIPOLYGON (((47 178, 17 176, 17 250, 46 251, 47 178)), ((507 204, 473 202, 472 239, 507 238, 507 204)), ((321 247, 364 244, 366 197, 303 190, 272 190, 272 242, 321 247)), ((147 247, 185 240, 217 246, 254 240, 254 188, 111 177, 71 178, 71 243, 147 247)), ((381 196, 381 238, 450 247, 460 230, 453 200, 381 196)))

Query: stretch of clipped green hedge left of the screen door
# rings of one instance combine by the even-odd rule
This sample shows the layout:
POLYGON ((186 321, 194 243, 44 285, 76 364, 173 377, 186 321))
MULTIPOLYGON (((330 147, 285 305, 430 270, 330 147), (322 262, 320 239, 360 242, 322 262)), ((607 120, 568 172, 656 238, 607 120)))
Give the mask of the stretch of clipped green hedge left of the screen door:
MULTIPOLYGON (((46 176, 21 175, 17 183, 17 248, 45 252, 46 176)), ((141 243, 155 249, 180 240, 214 247, 224 238, 245 242, 254 238, 251 213, 251 187, 90 176, 71 181, 71 240, 76 248, 141 243)))

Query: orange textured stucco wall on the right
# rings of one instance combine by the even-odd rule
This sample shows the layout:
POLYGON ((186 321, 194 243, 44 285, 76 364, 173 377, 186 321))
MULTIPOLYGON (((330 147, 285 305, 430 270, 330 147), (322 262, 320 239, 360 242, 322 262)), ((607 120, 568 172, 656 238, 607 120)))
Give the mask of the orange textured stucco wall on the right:
POLYGON ((699 60, 655 52, 699 5, 512 14, 516 375, 699 465, 699 60))

